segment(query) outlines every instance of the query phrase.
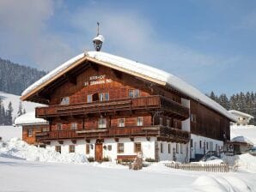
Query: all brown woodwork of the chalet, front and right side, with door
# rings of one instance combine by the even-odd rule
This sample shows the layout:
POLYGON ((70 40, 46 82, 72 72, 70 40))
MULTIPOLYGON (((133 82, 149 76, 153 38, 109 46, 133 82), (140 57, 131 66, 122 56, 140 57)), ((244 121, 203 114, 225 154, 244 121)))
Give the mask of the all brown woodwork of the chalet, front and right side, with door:
MULTIPOLYGON (((70 140, 76 144, 77 140, 94 140, 95 159, 100 160, 102 143, 109 138, 118 142, 120 138, 150 141, 154 137, 176 144, 187 144, 191 134, 217 141, 230 139, 228 117, 171 86, 92 61, 74 65, 36 92, 23 96, 47 104, 36 108, 35 116, 49 122, 49 130, 36 131, 34 141, 24 137, 25 141, 61 144, 70 140), (183 127, 185 122, 189 128, 183 127)), ((155 147, 155 153, 158 151, 155 147)))

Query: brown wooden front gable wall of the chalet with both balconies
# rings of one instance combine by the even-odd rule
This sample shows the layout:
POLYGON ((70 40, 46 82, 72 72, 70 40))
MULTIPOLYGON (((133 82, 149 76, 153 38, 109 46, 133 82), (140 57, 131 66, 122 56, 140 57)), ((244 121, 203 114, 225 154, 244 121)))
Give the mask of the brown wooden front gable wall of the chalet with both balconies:
POLYGON ((181 105, 180 95, 113 69, 89 64, 76 81, 67 80, 40 95, 46 94, 49 106, 36 108, 35 113, 49 121, 50 131, 38 135, 38 141, 135 136, 189 141, 189 133, 181 130, 189 109, 181 105), (100 94, 104 97, 105 93, 107 99, 102 99, 100 94), (62 99, 68 104, 61 104, 62 99), (140 126, 137 117, 143 119, 140 126), (104 129, 99 128, 100 118, 107 121, 104 129), (119 127, 120 118, 125 119, 124 127, 119 127), (72 130, 72 123, 76 123, 76 130, 72 130))

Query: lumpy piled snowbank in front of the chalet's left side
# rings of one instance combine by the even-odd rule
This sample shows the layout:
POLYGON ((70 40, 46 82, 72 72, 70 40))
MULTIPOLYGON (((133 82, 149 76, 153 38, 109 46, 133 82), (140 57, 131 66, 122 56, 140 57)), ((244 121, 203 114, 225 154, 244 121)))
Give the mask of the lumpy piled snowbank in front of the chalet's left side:
POLYGON ((83 164, 88 160, 77 153, 60 154, 54 150, 34 147, 18 138, 12 138, 0 146, 0 156, 21 158, 31 161, 83 164))

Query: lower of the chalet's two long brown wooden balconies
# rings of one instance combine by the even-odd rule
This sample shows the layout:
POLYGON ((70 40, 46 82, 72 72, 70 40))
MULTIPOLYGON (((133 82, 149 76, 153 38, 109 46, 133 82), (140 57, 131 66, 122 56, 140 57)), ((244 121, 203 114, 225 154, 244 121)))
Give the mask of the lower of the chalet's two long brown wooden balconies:
POLYGON ((52 130, 36 134, 37 141, 52 141, 65 139, 104 139, 135 136, 156 136, 167 141, 188 142, 190 134, 187 131, 164 126, 125 127, 110 129, 79 129, 79 130, 52 130))

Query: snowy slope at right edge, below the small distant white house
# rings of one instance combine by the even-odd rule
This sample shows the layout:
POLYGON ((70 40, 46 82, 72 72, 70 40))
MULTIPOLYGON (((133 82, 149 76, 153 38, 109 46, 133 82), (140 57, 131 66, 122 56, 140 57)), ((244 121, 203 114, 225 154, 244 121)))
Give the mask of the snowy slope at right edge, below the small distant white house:
POLYGON ((254 146, 256 146, 256 126, 231 126, 230 127, 230 137, 231 139, 237 136, 244 136, 249 141, 252 141, 254 146))

